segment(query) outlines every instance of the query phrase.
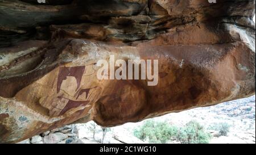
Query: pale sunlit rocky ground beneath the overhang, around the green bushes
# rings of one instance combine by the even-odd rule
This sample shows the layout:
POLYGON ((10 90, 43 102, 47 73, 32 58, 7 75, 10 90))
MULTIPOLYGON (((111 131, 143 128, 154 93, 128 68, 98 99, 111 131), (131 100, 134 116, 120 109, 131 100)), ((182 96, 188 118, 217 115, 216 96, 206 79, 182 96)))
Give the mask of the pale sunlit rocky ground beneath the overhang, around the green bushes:
MULTIPOLYGON (((255 96, 233 100, 216 106, 195 108, 178 113, 154 118, 155 121, 166 121, 177 126, 184 126, 191 120, 196 120, 212 133, 210 143, 254 143, 255 144, 255 96), (216 136, 212 129, 214 124, 227 123, 230 131, 227 136, 216 136)), ((133 131, 145 122, 126 123, 118 127, 107 128, 103 143, 147 143, 133 136, 133 131)), ((42 143, 102 143, 102 128, 94 122, 68 125, 54 129, 22 141, 26 144, 42 143)), ((175 142, 171 142, 175 143, 175 142)))

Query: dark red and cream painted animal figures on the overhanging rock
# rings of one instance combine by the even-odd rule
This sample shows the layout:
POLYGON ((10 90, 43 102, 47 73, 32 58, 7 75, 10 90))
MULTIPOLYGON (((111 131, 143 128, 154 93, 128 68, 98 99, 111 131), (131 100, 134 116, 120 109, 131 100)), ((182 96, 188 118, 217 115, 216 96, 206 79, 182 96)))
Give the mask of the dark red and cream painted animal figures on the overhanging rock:
POLYGON ((57 96, 51 100, 50 116, 64 115, 69 110, 81 110, 90 102, 90 90, 97 87, 85 88, 84 83, 81 85, 81 82, 84 82, 83 77, 86 77, 85 74, 86 66, 61 66, 59 68, 56 84, 57 96))

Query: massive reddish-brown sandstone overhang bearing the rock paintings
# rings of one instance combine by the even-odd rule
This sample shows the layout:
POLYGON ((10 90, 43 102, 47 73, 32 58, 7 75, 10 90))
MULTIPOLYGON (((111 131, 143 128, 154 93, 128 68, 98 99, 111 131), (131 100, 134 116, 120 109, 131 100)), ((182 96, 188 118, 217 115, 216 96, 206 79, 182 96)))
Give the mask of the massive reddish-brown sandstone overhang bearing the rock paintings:
POLYGON ((137 122, 255 94, 255 1, 0 1, 0 143, 137 122), (98 60, 158 60, 149 79, 98 60))

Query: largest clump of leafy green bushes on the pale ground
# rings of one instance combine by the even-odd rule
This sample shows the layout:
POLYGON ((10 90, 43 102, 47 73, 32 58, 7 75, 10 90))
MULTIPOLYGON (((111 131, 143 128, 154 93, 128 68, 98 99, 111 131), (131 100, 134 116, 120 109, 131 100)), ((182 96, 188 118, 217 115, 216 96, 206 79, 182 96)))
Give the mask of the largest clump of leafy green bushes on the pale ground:
POLYGON ((177 140, 180 143, 209 143, 210 135, 197 122, 189 122, 185 127, 178 128, 167 122, 146 121, 142 127, 134 130, 134 135, 150 143, 167 143, 177 140))

